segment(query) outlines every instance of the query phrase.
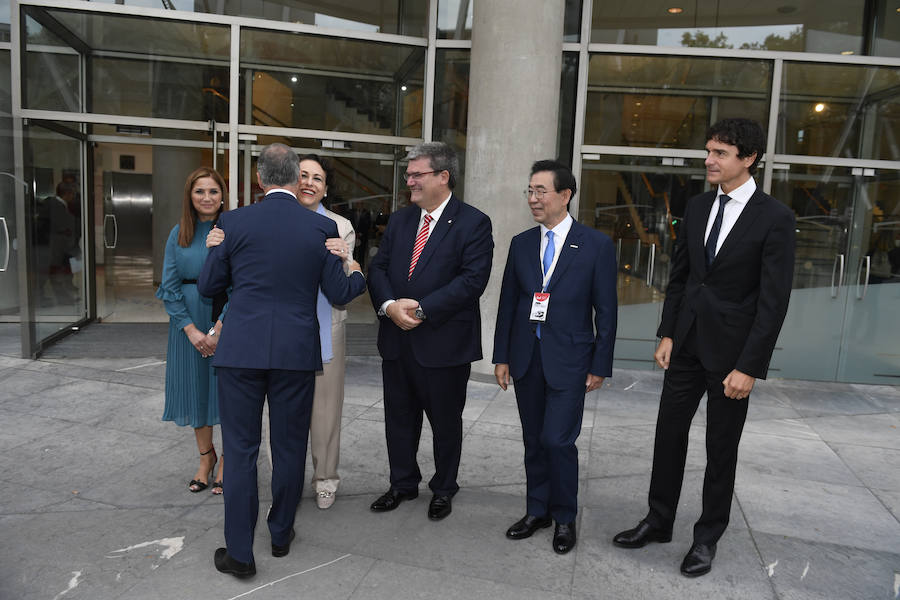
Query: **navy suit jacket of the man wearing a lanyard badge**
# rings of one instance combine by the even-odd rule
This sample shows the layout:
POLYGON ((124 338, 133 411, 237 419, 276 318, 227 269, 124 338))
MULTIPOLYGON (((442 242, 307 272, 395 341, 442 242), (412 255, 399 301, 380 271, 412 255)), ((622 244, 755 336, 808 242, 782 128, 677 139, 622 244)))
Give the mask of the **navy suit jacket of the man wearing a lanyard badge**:
MULTIPOLYGON (((541 291, 541 229, 520 233, 509 245, 494 332, 495 364, 509 364, 519 379, 528 370, 535 323, 531 303, 541 291)), ((583 386, 587 374, 612 375, 616 341, 616 250, 606 235, 577 221, 562 244, 547 285, 550 305, 541 325, 546 381, 557 388, 583 386)))

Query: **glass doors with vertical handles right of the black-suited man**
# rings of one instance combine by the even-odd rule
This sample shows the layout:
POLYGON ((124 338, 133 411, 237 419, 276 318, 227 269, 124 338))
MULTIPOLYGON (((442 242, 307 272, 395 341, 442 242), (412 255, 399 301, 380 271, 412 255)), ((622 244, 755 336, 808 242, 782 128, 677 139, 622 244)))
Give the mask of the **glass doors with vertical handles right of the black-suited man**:
POLYGON ((792 165, 772 195, 797 215, 794 287, 770 371, 900 381, 900 173, 792 165))

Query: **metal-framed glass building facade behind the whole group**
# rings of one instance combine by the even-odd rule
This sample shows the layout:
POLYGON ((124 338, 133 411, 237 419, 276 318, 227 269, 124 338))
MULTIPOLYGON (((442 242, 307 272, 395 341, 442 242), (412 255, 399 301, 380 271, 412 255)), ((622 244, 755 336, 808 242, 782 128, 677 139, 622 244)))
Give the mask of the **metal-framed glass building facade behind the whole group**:
MULTIPOLYGON (((211 163, 230 206, 254 202, 255 157, 273 141, 333 161, 329 201, 357 224, 365 262, 407 202, 400 173, 410 145, 445 141, 465 164, 477 1, 14 1, 21 39, 0 23, 0 223, 11 238, 24 222, 33 230, 30 246, 13 244, 29 253, 31 272, 0 271, 11 284, 0 317, 25 314, 22 294, 8 290, 26 282, 35 326, 23 353, 85 317, 140 318, 128 307, 158 277, 184 176, 211 163), (14 144, 17 123, 24 134, 14 144), (68 267, 51 258, 48 198, 61 182, 78 191, 77 209, 57 204, 78 230, 70 246, 83 254, 81 275, 74 256, 68 267)), ((773 374, 894 383, 900 364, 889 346, 900 331, 886 307, 900 293, 896 6, 566 0, 563 29, 557 153, 580 183, 573 214, 616 243, 617 365, 652 368, 680 219, 707 188, 705 131, 739 115, 769 132, 758 184, 798 221, 773 374)), ((9 256, 18 264, 15 250, 9 256)))

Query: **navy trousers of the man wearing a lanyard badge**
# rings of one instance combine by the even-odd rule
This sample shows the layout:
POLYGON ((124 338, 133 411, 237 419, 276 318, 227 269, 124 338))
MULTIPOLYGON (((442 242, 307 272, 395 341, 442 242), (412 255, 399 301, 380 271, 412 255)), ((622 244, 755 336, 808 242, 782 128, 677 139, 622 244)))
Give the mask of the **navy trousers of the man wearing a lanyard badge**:
POLYGON ((526 512, 571 523, 578 513, 578 448, 584 415, 584 379, 555 389, 544 378, 540 342, 531 364, 515 381, 516 404, 525 442, 526 512))

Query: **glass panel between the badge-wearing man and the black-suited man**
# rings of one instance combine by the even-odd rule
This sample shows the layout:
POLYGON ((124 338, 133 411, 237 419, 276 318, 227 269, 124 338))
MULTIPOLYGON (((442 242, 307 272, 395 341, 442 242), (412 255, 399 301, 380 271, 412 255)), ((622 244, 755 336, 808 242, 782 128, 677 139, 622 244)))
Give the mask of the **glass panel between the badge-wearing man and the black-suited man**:
POLYGON ((651 368, 669 260, 687 200, 706 187, 702 159, 585 157, 578 221, 616 245, 616 366, 651 368))

